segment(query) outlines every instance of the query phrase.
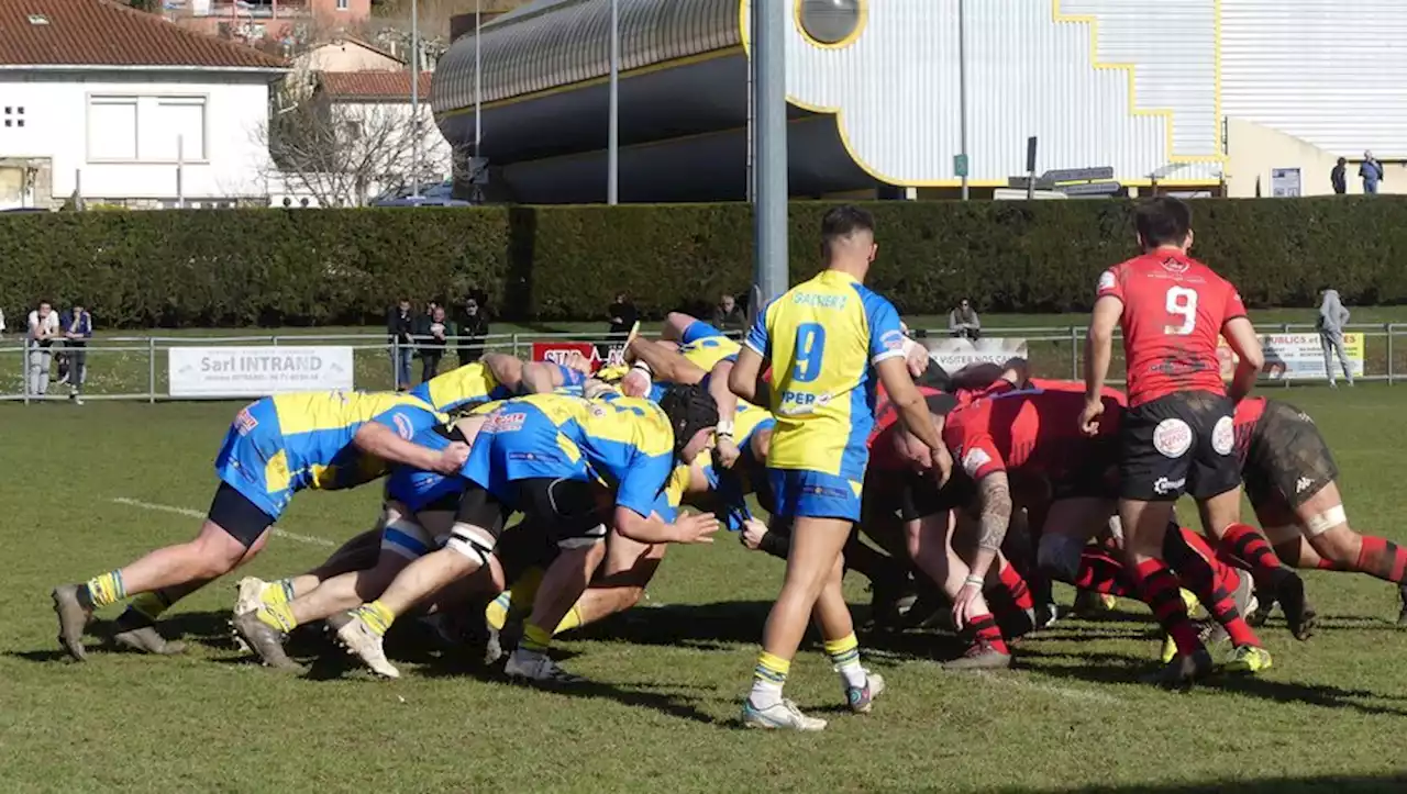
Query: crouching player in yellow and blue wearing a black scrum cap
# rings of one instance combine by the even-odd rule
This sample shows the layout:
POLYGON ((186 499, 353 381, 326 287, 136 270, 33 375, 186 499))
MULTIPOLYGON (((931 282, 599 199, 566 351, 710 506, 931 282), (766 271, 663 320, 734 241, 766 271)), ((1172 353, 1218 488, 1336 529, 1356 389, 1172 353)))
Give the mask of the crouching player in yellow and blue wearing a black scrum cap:
POLYGON ((674 517, 661 499, 675 458, 702 451, 718 412, 696 388, 675 389, 661 403, 559 395, 505 402, 490 415, 460 471, 469 486, 445 548, 401 571, 377 600, 329 621, 336 623, 338 638, 376 673, 400 676, 381 646, 386 631, 416 601, 485 565, 504 520, 521 510, 552 533, 559 555, 505 672, 537 682, 570 680, 546 651, 605 554, 595 481, 613 490, 609 520, 629 538, 711 542, 718 528, 712 516, 674 517))

